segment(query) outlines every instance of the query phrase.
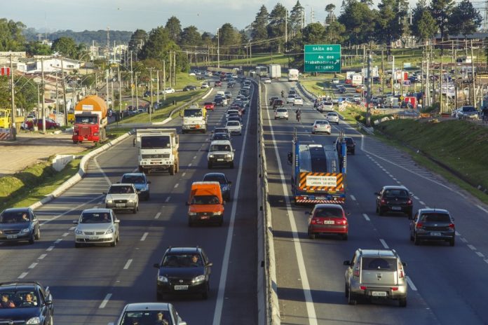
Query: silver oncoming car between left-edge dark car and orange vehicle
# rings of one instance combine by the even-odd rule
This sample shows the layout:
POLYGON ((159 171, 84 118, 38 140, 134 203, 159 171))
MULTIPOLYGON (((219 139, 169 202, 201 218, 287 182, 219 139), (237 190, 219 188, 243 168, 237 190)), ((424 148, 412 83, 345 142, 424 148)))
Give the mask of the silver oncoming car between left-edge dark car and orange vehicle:
POLYGON ((83 244, 115 246, 120 239, 119 220, 111 209, 83 210, 80 218, 73 223, 78 225, 74 228, 74 247, 81 247, 83 244))

